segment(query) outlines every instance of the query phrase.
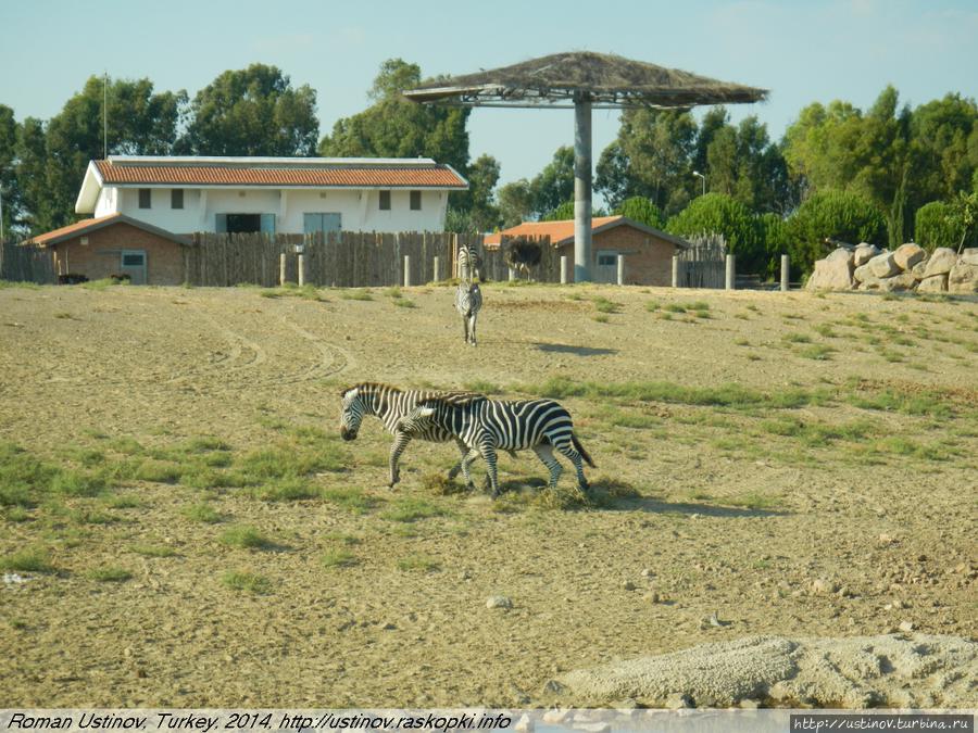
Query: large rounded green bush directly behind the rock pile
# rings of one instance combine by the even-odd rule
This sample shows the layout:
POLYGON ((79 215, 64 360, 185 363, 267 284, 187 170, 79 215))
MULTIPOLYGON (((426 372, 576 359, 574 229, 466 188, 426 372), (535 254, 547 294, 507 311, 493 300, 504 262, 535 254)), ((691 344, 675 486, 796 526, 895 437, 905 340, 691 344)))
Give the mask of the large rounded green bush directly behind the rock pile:
POLYGON ((792 276, 808 275, 815 261, 828 254, 826 238, 856 244, 886 245, 887 223, 866 199, 845 191, 822 191, 810 197, 788 219, 792 276))

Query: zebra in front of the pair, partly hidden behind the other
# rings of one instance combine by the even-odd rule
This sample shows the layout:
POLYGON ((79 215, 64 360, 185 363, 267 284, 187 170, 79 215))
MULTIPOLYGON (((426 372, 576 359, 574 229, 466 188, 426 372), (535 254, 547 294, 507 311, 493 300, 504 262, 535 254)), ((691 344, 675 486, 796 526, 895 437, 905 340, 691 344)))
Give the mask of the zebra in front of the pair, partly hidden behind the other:
MULTIPOLYGON (((340 393, 343 401, 342 415, 340 417, 340 435, 347 441, 355 440, 364 415, 379 418, 388 432, 394 435, 388 460, 390 473, 388 485, 393 488, 400 480, 398 462, 412 439, 426 440, 434 443, 444 443, 454 440, 462 457, 467 455, 468 447, 454 433, 440 426, 431 424, 419 427, 418 430, 411 434, 397 429, 399 420, 410 414, 422 401, 451 394, 453 393, 436 392, 434 390, 400 390, 397 387, 377 382, 361 382, 360 384, 348 387, 340 393)), ((461 463, 455 464, 449 471, 449 479, 455 478, 460 468, 461 463)))

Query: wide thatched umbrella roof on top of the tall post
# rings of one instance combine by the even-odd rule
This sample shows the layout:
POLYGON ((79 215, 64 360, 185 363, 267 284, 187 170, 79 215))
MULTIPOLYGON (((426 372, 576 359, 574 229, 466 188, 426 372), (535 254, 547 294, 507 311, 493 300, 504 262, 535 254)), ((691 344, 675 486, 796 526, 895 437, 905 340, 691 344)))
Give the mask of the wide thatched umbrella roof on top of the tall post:
POLYGON ((404 92, 416 102, 465 106, 690 108, 757 102, 766 89, 718 81, 623 56, 554 53, 488 72, 441 78, 404 92), (569 102, 569 104, 568 104, 569 102))

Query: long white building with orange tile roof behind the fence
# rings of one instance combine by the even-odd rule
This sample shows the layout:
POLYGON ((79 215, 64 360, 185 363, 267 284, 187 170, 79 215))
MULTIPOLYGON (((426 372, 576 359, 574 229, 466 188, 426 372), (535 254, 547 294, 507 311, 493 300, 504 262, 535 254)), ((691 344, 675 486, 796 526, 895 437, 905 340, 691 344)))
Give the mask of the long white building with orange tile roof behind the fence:
POLYGON ((91 161, 75 203, 196 231, 443 231, 450 191, 468 182, 431 159, 170 157, 91 161))

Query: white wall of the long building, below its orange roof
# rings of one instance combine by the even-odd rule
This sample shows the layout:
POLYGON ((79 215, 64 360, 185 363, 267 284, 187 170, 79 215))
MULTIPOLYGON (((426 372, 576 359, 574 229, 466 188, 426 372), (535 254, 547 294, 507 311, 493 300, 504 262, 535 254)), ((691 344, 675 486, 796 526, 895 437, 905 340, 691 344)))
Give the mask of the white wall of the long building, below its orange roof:
POLYGON ((340 214, 344 231, 444 231, 448 191, 422 191, 421 211, 411 211, 410 191, 392 190, 390 211, 380 211, 376 189, 184 189, 184 208, 172 208, 171 189, 150 189, 150 208, 139 207, 138 188, 109 186, 99 193, 95 216, 122 213, 166 231, 216 231, 217 214, 275 214, 279 233, 303 232, 303 215, 340 214))

